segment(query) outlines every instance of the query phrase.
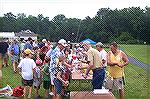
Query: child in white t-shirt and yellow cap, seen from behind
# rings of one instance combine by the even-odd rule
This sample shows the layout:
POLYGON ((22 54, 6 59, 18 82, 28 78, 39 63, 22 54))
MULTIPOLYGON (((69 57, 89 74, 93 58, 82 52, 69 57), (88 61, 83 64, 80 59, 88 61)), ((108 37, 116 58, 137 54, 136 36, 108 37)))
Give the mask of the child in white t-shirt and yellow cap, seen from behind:
POLYGON ((36 64, 33 59, 30 58, 31 54, 30 49, 24 51, 25 58, 22 59, 18 65, 19 73, 22 76, 22 83, 24 86, 24 99, 26 99, 27 89, 29 87, 28 98, 31 98, 32 94, 32 85, 33 85, 33 70, 36 67, 36 64))

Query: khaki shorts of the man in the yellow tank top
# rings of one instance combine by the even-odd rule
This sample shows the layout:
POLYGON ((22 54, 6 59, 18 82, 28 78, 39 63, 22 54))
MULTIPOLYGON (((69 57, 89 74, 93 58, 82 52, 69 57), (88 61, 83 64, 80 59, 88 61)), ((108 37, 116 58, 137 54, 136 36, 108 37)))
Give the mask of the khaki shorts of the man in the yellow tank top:
POLYGON ((112 78, 112 77, 106 78, 105 87, 106 87, 106 89, 123 89, 124 84, 123 84, 122 77, 120 77, 120 78, 112 78))

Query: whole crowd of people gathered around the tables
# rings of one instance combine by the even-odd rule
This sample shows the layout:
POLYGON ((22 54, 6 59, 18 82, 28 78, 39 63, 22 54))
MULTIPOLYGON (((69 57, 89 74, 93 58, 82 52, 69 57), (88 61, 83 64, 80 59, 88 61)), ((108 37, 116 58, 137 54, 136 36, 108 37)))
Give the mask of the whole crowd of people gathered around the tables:
POLYGON ((74 67, 83 69, 79 62, 87 64, 86 72, 83 74, 85 79, 89 76, 90 70, 93 72, 92 90, 102 89, 102 86, 110 91, 117 88, 120 99, 124 99, 124 67, 128 64, 128 58, 119 50, 116 42, 110 44, 108 53, 101 42, 96 44, 96 48, 88 41, 73 45, 64 39, 60 39, 56 47, 46 39, 40 43, 31 38, 21 43, 17 40, 10 44, 4 42, 0 42, 0 80, 2 67, 9 66, 9 56, 14 74, 19 73, 22 77, 24 99, 32 97, 33 86, 35 97, 39 98, 41 84, 45 89, 45 98, 48 98, 49 94, 54 95, 55 99, 67 95, 72 70, 74 67))

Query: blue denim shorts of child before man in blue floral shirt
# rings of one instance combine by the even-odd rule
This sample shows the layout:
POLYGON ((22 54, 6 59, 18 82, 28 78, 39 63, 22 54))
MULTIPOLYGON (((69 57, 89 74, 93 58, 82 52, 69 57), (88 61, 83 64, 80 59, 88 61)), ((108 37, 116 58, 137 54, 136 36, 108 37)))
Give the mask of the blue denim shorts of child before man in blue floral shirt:
POLYGON ((62 86, 62 82, 58 79, 54 79, 54 86, 55 86, 55 89, 56 89, 56 94, 58 95, 62 95, 62 89, 63 89, 63 86, 62 86))

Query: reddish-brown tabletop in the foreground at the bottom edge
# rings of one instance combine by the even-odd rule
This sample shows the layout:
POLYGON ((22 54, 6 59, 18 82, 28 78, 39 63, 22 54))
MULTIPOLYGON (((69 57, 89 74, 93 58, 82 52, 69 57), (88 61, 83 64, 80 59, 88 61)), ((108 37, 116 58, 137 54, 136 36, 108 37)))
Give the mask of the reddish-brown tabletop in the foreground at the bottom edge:
POLYGON ((111 92, 95 94, 92 91, 73 91, 70 93, 70 99, 116 99, 116 98, 111 92))

